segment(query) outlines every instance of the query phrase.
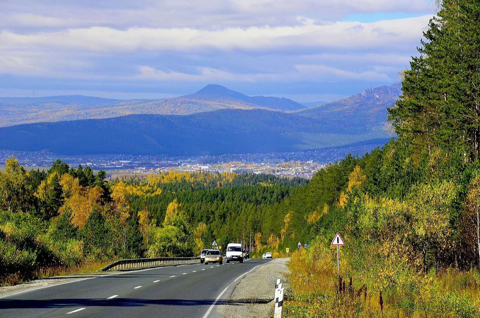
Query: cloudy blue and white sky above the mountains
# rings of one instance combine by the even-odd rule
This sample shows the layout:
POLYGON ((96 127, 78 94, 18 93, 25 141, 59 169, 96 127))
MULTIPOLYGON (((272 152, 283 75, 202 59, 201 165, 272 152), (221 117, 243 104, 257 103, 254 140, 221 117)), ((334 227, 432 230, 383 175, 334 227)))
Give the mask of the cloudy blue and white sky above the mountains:
POLYGON ((433 0, 0 0, 0 97, 219 84, 329 101, 398 82, 435 12, 433 0))

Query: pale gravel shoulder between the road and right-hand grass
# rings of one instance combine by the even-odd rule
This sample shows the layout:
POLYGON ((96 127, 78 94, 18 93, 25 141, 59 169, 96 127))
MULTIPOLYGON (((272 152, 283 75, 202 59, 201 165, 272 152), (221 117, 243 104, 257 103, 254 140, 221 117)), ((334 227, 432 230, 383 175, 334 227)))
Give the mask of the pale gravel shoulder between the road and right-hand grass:
POLYGON ((226 318, 268 317, 275 306, 275 283, 281 277, 282 284, 288 273, 289 258, 275 258, 245 276, 235 287, 230 302, 222 305, 221 314, 226 318))

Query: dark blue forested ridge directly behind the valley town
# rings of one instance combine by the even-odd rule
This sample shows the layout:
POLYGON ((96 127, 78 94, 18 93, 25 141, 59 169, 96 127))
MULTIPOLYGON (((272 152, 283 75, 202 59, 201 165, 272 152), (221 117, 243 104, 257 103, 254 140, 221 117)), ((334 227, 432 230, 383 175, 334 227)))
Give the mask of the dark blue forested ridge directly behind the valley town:
POLYGON ((0 128, 0 149, 66 154, 195 156, 289 152, 388 137, 385 131, 269 110, 216 110, 175 115, 129 115, 0 128))

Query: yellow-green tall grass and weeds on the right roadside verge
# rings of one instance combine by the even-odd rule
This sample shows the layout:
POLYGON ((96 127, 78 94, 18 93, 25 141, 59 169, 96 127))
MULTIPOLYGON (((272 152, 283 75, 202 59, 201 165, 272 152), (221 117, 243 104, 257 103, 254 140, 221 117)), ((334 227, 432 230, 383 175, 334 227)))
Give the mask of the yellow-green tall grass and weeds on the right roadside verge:
MULTIPOLYGON (((403 278, 407 283, 392 289, 375 288, 361 269, 347 264, 341 264, 338 277, 329 248, 317 245, 308 254, 293 254, 283 317, 480 317, 477 269, 410 270, 403 278)), ((374 280, 379 273, 371 275, 374 280)))

